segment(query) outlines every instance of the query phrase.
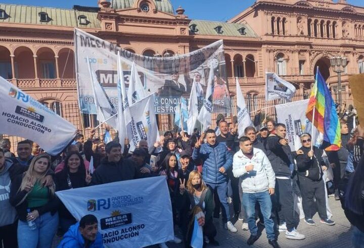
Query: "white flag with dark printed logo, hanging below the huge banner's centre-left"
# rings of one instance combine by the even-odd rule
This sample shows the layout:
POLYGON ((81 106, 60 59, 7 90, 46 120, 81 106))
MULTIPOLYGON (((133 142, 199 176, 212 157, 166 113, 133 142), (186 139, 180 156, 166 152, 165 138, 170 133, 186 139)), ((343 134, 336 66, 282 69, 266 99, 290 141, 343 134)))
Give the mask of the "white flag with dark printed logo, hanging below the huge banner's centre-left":
POLYGON ((130 144, 129 151, 134 151, 141 140, 146 140, 149 149, 152 150, 154 143, 159 139, 153 94, 134 103, 129 110, 133 113, 131 120, 126 125, 130 144))

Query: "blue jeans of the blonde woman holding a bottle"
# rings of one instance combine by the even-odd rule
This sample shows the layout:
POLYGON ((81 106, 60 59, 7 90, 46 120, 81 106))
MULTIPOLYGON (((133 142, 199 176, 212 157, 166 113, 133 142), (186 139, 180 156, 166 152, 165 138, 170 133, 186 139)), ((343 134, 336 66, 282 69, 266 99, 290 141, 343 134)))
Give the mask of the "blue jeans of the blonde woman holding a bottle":
POLYGON ((51 248, 53 237, 58 228, 58 213, 44 213, 35 219, 37 228, 30 230, 28 222, 19 220, 19 248, 51 248))

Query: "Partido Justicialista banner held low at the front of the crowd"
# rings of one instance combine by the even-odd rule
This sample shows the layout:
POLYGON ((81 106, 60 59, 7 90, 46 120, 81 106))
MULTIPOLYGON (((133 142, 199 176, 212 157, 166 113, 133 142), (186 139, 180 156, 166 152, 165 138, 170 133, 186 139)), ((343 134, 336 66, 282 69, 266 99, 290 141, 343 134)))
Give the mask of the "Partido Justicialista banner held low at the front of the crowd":
POLYGON ((165 176, 59 191, 56 195, 77 220, 86 214, 97 217, 105 247, 144 247, 174 237, 165 176))

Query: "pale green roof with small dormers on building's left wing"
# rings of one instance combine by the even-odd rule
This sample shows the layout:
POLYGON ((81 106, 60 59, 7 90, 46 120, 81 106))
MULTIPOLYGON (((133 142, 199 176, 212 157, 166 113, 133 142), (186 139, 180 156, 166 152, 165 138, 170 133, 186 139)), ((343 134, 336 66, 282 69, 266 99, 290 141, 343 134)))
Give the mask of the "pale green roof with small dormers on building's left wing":
POLYGON ((97 12, 10 4, 0 4, 0 9, 5 10, 6 13, 6 18, 0 19, 0 23, 100 28, 100 22, 97 19, 97 12), (39 17, 40 12, 47 13, 49 21, 41 22, 39 17), (86 16, 86 20, 88 21, 87 25, 79 24, 78 17, 82 15, 86 16))

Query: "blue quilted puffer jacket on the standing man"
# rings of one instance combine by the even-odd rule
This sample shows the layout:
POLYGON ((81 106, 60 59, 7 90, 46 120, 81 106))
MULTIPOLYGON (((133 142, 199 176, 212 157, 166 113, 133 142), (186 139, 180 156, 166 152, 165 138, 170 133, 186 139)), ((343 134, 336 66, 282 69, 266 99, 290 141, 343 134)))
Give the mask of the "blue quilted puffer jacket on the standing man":
POLYGON ((202 178, 205 182, 221 183, 228 181, 228 175, 218 170, 224 167, 228 171, 233 166, 233 156, 226 145, 216 142, 215 145, 202 144, 192 153, 193 160, 202 160, 202 178))

